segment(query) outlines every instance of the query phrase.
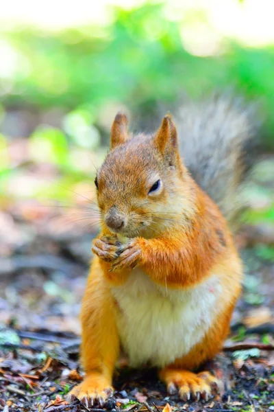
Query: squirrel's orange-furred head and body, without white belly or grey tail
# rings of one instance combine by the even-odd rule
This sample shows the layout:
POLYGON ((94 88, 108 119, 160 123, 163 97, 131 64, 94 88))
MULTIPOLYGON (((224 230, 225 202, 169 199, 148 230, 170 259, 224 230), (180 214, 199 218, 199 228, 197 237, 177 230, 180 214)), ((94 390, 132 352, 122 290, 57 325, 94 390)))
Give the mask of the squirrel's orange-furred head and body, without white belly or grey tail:
POLYGON ((224 293, 216 298, 217 315, 212 325, 188 354, 160 372, 168 389, 177 387, 182 398, 189 398, 190 393, 196 398, 200 396, 197 393, 208 397, 210 385, 216 380, 207 373, 196 376, 190 370, 221 350, 240 293, 242 266, 225 218, 192 180, 179 157, 171 118, 164 118, 155 137, 138 135, 129 139, 126 126, 123 115, 116 117, 113 150, 97 179, 102 214, 105 216, 112 208, 112 218, 115 213, 119 218, 125 216, 121 233, 128 239, 121 244, 116 232, 104 227, 92 244, 97 256, 81 313, 86 379, 71 395, 100 400, 111 388, 120 345, 116 316, 119 306, 112 288, 123 288, 138 266, 155 285, 170 291, 194 290, 206 279, 218 279, 224 293), (151 179, 159 176, 163 187, 158 196, 149 197, 151 179))

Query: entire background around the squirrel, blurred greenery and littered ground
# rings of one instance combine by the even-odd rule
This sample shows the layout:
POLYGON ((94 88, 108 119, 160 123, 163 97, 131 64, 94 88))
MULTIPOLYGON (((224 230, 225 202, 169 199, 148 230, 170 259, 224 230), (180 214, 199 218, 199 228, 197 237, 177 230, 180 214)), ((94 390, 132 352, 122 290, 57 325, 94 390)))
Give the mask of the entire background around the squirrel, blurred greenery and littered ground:
MULTIPOLYGON (((61 410, 81 379, 71 369, 99 226, 94 178, 114 115, 153 130, 178 99, 212 91, 255 102, 262 126, 236 236, 246 274, 224 358, 234 389, 207 408, 273 410, 273 351, 259 349, 274 347, 273 15, 271 0, 1 2, 1 410, 61 410), (242 341, 249 350, 234 352, 242 341)), ((115 393, 127 411, 177 402, 155 378, 129 380, 115 393)))

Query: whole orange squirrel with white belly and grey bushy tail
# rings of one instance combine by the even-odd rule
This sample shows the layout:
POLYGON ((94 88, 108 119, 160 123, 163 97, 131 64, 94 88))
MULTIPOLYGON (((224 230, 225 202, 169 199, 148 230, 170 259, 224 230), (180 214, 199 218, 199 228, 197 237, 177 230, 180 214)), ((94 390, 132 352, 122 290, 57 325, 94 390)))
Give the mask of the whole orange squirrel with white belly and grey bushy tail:
POLYGON ((221 351, 242 282, 229 224, 239 208, 249 111, 225 98, 189 104, 156 133, 132 135, 118 113, 95 186, 101 233, 82 303, 86 376, 69 393, 112 396, 120 348, 158 367, 169 393, 208 400, 221 382, 197 368, 221 351), (239 197, 239 196, 238 196, 239 197))

